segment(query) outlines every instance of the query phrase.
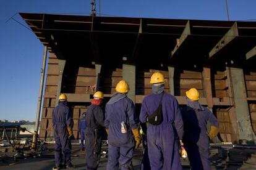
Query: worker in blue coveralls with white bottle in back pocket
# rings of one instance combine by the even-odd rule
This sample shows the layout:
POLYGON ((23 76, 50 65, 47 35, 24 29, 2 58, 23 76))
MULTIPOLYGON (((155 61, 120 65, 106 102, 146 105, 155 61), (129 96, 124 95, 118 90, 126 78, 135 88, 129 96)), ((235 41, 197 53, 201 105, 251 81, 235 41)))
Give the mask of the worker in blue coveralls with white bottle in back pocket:
POLYGON ((121 80, 116 92, 106 103, 105 126, 108 132, 108 170, 132 169, 134 148, 139 147, 139 119, 132 100, 127 97, 129 86, 121 80), (134 137, 132 136, 134 134, 134 137), (135 138, 135 142, 134 142, 135 138))

